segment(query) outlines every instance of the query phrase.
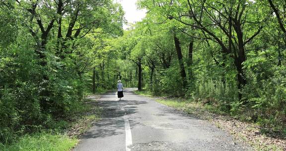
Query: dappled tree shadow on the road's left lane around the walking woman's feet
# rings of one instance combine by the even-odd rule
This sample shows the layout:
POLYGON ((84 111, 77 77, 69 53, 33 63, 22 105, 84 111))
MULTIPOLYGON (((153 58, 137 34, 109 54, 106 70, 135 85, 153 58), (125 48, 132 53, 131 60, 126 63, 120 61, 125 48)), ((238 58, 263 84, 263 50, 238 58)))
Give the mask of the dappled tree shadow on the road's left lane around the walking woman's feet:
MULTIPOLYGON (((132 90, 126 90, 125 94, 134 94, 132 90)), ((83 136, 83 139, 105 138, 112 135, 119 135, 125 131, 124 116, 137 113, 138 105, 145 104, 146 101, 137 100, 116 100, 115 93, 103 95, 98 102, 102 107, 102 120, 93 124, 83 136)), ((133 124, 136 124, 133 122, 133 124)))

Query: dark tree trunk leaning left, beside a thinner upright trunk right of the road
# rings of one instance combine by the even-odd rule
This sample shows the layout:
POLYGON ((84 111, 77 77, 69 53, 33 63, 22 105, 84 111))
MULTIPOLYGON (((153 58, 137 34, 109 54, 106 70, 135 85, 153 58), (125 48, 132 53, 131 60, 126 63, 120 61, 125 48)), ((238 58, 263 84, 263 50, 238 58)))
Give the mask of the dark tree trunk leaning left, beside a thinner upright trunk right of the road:
POLYGON ((179 60, 179 65, 180 65, 180 74, 183 80, 183 88, 186 88, 187 79, 186 79, 186 71, 185 71, 184 62, 183 62, 182 50, 180 46, 180 41, 175 35, 174 35, 174 42, 175 42, 176 52, 178 55, 178 60, 179 60))

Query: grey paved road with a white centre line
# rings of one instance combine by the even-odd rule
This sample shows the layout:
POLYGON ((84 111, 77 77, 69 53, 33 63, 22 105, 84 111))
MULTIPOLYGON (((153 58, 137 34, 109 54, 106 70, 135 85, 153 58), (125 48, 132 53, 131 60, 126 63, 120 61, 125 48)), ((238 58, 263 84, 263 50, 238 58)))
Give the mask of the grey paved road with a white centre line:
POLYGON ((74 151, 249 151, 207 121, 185 115, 151 98, 124 91, 99 101, 103 118, 81 138, 74 151))

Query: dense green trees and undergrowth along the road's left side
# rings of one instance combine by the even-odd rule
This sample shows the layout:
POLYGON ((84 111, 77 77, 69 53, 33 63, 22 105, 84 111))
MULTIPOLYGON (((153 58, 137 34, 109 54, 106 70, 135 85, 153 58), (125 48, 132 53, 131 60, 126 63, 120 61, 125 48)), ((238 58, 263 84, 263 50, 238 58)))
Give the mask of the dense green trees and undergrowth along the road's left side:
POLYGON ((77 111, 123 15, 112 0, 0 1, 0 142, 77 111))

